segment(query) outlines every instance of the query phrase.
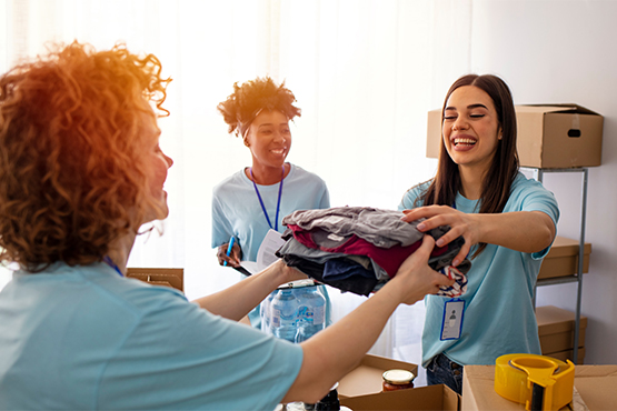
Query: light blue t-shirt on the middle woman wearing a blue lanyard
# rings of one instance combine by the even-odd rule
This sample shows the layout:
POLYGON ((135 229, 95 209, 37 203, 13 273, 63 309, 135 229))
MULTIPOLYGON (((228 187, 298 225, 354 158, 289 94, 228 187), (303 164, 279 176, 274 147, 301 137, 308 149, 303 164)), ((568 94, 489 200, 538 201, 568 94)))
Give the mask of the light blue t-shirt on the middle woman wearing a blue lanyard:
MULTIPOLYGON (((289 174, 282 182, 278 230, 285 231, 281 220, 297 210, 327 209, 330 196, 326 182, 318 176, 290 164, 289 174)), ((275 228, 279 184, 257 184, 268 218, 275 228)), ((243 170, 217 184, 212 192, 212 248, 236 237, 242 249, 242 260, 257 261, 259 245, 270 230, 263 210, 255 192, 252 181, 243 170)))

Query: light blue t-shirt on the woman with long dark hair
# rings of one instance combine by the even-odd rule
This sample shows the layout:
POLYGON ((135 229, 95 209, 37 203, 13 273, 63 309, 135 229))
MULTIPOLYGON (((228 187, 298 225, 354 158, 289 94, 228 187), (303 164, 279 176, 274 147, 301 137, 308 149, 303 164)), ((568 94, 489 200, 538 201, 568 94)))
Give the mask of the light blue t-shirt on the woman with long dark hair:
MULTIPOLYGON (((428 188, 428 182, 409 190, 399 210, 412 209, 416 198, 428 188)), ((420 202, 421 206, 421 202, 420 202)), ((456 208, 466 213, 479 210, 479 200, 468 200, 460 193, 456 208)), ((557 225, 559 209, 553 193, 543 184, 518 173, 504 212, 541 211, 557 225)), ((471 248, 470 254, 477 249, 471 248)), ((474 260, 468 272, 461 335, 441 341, 444 309, 448 298, 427 295, 426 321, 422 334, 422 365, 439 353, 462 365, 492 365, 499 355, 508 353, 540 354, 538 325, 534 312, 534 288, 544 257, 550 247, 525 253, 495 244, 474 260)))

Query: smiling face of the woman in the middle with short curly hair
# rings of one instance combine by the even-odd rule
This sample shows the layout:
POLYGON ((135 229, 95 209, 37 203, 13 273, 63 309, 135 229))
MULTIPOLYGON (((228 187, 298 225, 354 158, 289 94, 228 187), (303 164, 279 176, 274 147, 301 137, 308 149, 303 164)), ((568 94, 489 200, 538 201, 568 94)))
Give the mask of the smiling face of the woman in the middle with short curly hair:
POLYGON ((291 149, 289 120, 280 111, 261 111, 250 124, 246 144, 253 166, 280 169, 291 149))

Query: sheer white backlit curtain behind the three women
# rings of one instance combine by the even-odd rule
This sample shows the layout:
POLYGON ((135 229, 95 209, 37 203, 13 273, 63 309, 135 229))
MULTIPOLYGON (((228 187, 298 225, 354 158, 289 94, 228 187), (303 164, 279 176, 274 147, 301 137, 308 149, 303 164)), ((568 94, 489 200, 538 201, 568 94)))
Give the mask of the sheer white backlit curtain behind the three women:
MULTIPOLYGON (((236 81, 269 74, 295 92, 289 161, 328 183, 332 206, 396 208, 432 177, 426 112, 469 71, 472 1, 432 0, 0 0, 0 70, 77 39, 123 41, 160 58, 173 78, 161 146, 173 158, 170 215, 138 238, 129 265, 182 267, 187 297, 237 281, 210 248, 212 187, 249 164, 216 110, 236 81)), ((6 278, 6 277, 4 277, 6 278)), ((1 285, 1 284, 0 284, 1 285)), ((335 318, 364 298, 330 292, 335 318)), ((419 361, 421 302, 401 308, 372 352, 410 347, 419 361)), ((400 352, 399 352, 400 354, 400 352)))

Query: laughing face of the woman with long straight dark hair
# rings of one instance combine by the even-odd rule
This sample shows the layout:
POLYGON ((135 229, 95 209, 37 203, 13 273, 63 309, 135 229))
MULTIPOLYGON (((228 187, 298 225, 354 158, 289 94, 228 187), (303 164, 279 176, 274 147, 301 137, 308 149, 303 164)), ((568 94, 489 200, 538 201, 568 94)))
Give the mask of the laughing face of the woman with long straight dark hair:
POLYGON ((456 89, 444 110, 444 144, 459 168, 486 172, 501 139, 492 99, 475 86, 456 89))

